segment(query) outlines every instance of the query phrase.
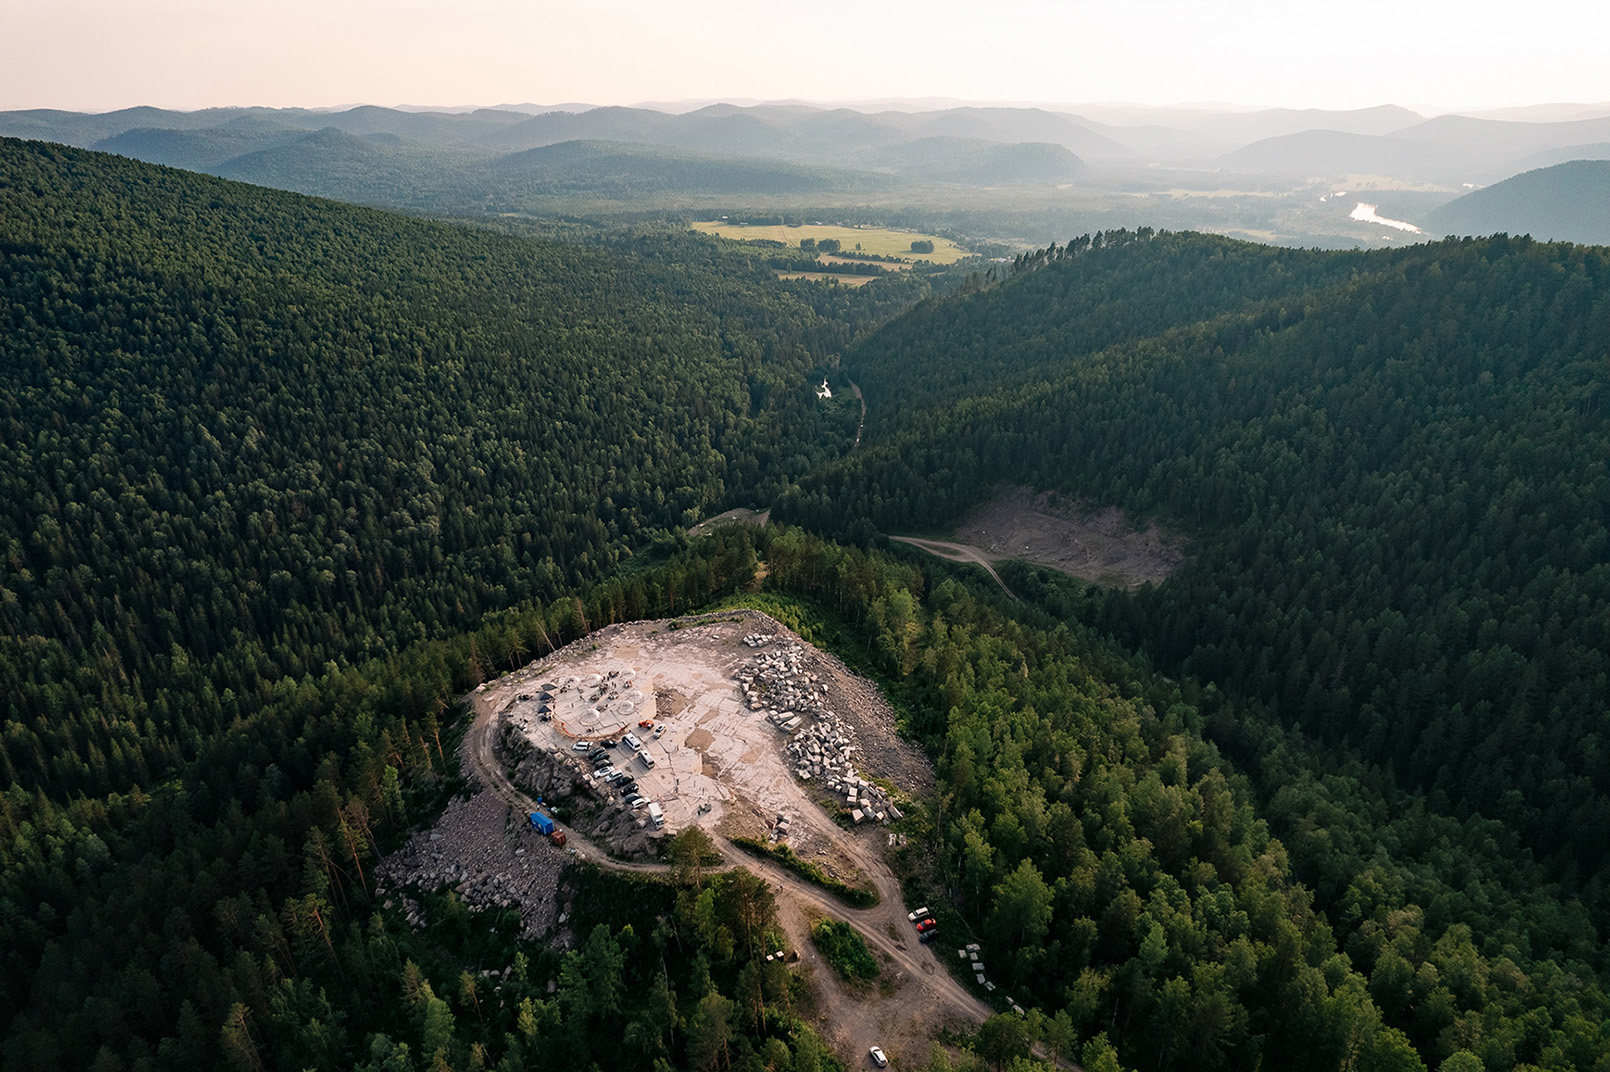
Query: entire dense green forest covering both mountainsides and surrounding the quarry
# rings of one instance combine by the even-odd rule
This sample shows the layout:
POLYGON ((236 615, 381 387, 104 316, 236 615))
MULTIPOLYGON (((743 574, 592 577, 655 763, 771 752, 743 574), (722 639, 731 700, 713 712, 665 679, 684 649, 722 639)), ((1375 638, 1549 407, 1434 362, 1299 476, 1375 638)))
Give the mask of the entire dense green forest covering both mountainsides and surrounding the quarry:
POLYGON ((565 954, 370 893, 460 787, 465 691, 741 600, 935 760, 910 892, 1030 1006, 964 1062, 1610 1069, 1604 251, 1141 230, 932 298, 0 169, 6 1067, 839 1067, 697 839, 576 872, 565 954), (1001 484, 1191 559, 1009 567, 1019 602, 871 547, 1001 484), (819 534, 679 536, 771 499, 819 534))

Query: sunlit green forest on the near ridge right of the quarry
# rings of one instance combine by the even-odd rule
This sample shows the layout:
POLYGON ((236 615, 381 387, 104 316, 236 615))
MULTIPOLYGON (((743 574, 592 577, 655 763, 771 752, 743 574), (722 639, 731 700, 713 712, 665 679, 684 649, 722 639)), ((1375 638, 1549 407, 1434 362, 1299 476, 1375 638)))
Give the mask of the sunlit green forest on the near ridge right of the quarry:
POLYGON ((1082 583, 1019 570, 1030 599, 1003 604, 800 533, 765 554, 908 702, 940 774, 919 895, 1016 951, 1042 1043, 1106 1035, 1138 1069, 1610 1062, 1586 913, 1499 824, 1393 816, 1373 773, 1080 625, 1082 583), (1259 750, 1254 777, 1217 736, 1259 750))

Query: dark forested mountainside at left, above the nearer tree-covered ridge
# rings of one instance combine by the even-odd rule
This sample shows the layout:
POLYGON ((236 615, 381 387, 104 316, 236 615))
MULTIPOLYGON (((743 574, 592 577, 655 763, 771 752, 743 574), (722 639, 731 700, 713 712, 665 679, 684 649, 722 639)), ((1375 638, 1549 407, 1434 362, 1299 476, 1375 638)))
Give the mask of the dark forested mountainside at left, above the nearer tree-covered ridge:
POLYGON ((708 241, 589 253, 37 143, 3 167, 0 771, 31 792, 148 784, 192 703, 204 737, 269 679, 599 576, 853 433, 807 377, 837 328, 708 241))

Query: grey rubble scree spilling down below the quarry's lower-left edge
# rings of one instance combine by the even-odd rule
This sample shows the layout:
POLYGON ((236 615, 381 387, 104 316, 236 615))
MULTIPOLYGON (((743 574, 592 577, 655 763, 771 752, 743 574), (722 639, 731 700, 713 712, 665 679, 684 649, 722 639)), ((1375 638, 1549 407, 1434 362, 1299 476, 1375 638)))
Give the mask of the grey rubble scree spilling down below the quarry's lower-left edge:
POLYGON ((375 869, 375 892, 401 901, 409 926, 425 926, 409 893, 452 889, 470 911, 517 908, 520 937, 536 938, 559 919, 559 880, 570 856, 489 792, 454 800, 375 869))

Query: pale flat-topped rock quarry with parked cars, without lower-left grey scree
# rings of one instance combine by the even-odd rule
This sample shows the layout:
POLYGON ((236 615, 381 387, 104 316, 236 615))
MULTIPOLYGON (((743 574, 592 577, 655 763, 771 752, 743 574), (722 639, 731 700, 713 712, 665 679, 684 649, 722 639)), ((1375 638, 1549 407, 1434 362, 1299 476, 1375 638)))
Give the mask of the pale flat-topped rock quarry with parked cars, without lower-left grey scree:
POLYGON ((609 626, 477 699, 510 782, 625 858, 699 824, 836 866, 836 819, 932 779, 876 689, 758 612, 609 626))

